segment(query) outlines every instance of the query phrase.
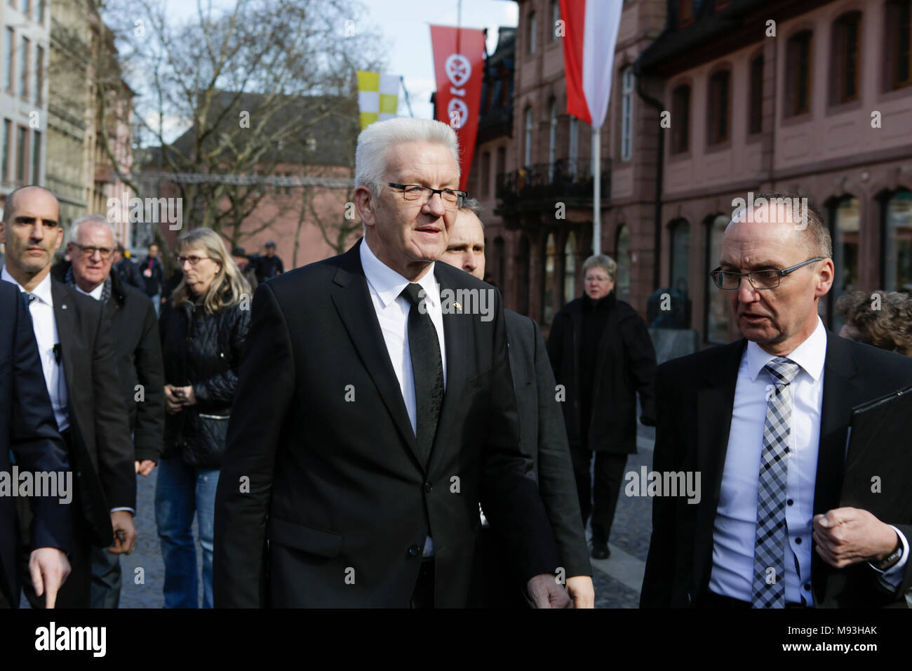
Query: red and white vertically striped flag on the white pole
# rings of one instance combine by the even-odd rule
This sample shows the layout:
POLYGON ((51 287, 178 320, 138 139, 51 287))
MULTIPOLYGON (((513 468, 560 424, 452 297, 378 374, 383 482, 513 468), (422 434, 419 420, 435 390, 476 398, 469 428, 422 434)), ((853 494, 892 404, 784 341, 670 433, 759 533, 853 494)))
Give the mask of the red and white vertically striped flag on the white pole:
POLYGON ((567 113, 601 128, 611 95, 623 0, 561 0, 567 113))

